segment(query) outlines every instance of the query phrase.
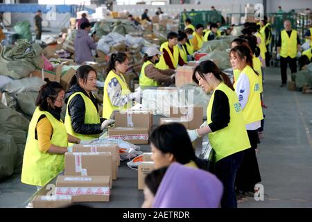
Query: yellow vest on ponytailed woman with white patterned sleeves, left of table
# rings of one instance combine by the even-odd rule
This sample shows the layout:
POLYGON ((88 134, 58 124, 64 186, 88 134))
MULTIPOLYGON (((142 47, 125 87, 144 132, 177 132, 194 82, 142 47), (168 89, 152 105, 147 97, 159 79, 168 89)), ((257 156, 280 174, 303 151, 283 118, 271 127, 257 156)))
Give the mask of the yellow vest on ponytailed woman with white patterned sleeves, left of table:
POLYGON ((112 112, 114 112, 114 110, 126 110, 128 104, 131 106, 130 103, 125 104, 121 107, 112 105, 112 102, 110 101, 110 96, 108 96, 108 93, 107 93, 107 87, 108 87, 108 84, 110 83, 110 80, 112 80, 112 78, 116 78, 118 83, 121 85, 121 95, 128 95, 131 93, 127 83, 125 82, 125 78, 122 75, 119 76, 115 74, 114 71, 111 70, 110 73, 107 75, 105 79, 105 83, 104 83, 103 117, 105 119, 110 119, 110 116, 112 115, 112 112))

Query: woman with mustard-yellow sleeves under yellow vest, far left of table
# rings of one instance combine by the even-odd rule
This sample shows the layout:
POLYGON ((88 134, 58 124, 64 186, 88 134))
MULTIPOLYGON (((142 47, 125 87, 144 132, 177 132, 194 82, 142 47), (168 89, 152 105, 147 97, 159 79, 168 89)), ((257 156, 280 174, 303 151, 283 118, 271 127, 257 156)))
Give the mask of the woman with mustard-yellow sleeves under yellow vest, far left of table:
POLYGON ((64 94, 60 83, 47 79, 35 102, 37 108, 28 128, 21 182, 37 189, 64 170, 64 153, 71 152, 68 142, 80 142, 67 134, 60 118, 64 94))

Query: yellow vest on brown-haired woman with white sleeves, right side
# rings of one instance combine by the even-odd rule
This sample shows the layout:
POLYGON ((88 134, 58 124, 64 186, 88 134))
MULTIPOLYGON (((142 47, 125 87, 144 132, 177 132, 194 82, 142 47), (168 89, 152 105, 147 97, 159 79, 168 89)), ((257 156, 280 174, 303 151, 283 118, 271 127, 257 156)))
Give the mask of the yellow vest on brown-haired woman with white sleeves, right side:
MULTIPOLYGON (((250 83, 250 93, 248 96, 248 102, 243 108, 243 119, 245 124, 254 123, 263 119, 263 113, 261 108, 260 100, 260 85, 259 85, 259 76, 254 73, 252 67, 247 65, 242 73, 246 74, 250 83)), ((236 83, 234 83, 234 88, 236 89, 236 83)))

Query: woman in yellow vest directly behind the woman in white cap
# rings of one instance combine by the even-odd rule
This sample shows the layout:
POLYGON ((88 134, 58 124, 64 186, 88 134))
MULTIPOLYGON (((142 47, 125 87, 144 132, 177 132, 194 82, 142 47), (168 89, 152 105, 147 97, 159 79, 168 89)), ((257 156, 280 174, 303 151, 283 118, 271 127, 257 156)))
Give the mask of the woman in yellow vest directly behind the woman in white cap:
POLYGON ((164 42, 160 47, 160 51, 164 52, 156 64, 158 69, 177 69, 177 65, 184 65, 184 61, 180 56, 179 48, 177 47, 177 33, 168 33, 168 42, 164 42))

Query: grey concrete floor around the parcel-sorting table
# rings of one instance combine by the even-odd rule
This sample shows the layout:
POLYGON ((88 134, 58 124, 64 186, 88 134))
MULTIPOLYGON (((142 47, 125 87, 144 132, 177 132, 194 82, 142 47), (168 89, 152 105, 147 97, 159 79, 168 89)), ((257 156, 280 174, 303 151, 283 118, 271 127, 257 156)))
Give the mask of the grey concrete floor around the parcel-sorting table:
MULTIPOLYGON (((268 109, 257 155, 264 200, 245 198, 239 207, 312 207, 312 95, 280 88, 279 68, 266 69, 265 80, 268 109)), ((36 191, 19 179, 15 175, 0 182, 0 207, 21 207, 36 191)), ((142 199, 142 195, 134 196, 142 199)), ((130 202, 131 207, 141 205, 130 202)))

